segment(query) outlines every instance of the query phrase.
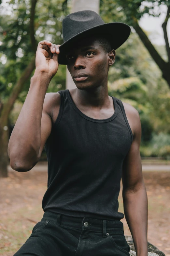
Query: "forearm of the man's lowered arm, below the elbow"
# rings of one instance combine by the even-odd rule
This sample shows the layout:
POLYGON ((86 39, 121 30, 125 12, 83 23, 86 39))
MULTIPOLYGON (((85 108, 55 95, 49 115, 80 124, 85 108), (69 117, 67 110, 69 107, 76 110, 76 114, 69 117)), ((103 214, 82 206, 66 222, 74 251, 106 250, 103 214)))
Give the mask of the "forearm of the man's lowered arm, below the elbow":
POLYGON ((148 255, 148 197, 144 182, 137 190, 122 192, 124 215, 134 241, 137 256, 148 255))

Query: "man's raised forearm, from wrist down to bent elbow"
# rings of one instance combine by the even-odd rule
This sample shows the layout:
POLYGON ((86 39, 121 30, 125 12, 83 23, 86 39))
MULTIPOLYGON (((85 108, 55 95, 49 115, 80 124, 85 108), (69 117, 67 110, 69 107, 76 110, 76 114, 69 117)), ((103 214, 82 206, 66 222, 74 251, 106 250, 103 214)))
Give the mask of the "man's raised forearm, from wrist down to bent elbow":
POLYGON ((35 70, 27 97, 9 139, 8 155, 10 165, 14 169, 28 168, 36 161, 41 143, 43 103, 49 83, 49 77, 36 73, 35 70))

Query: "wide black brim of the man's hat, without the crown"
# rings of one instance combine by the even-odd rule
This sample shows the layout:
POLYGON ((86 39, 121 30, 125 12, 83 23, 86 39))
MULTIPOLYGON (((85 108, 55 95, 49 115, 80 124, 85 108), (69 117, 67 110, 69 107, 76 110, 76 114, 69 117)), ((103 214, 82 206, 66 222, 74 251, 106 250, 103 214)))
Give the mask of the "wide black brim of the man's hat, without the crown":
POLYGON ((105 23, 84 30, 60 45, 58 63, 61 65, 67 65, 67 58, 65 56, 66 50, 68 50, 80 38, 90 35, 104 36, 110 40, 111 48, 116 50, 128 39, 130 33, 130 26, 121 22, 105 23))

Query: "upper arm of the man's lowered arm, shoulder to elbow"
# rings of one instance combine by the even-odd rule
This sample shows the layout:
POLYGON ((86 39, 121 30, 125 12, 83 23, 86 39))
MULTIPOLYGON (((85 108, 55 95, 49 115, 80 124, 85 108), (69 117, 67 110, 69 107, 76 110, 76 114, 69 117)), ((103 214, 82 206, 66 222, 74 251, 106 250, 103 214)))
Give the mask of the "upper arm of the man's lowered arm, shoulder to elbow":
POLYGON ((140 156, 141 122, 137 110, 133 112, 134 139, 122 165, 123 191, 136 190, 143 182, 140 156))

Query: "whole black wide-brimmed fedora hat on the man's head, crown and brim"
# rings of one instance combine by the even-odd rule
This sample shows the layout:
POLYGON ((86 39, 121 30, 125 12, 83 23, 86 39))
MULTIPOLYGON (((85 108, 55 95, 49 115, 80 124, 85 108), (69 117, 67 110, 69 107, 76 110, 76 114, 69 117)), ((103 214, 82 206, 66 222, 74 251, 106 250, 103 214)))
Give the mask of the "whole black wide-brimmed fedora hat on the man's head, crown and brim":
POLYGON ((122 22, 105 23, 95 11, 84 10, 68 14, 63 19, 63 40, 58 63, 66 65, 66 51, 79 39, 100 35, 109 39, 112 49, 119 48, 129 37, 130 26, 122 22))

